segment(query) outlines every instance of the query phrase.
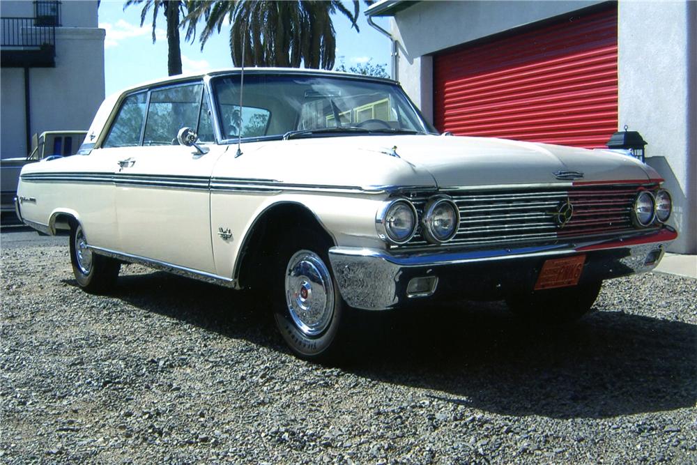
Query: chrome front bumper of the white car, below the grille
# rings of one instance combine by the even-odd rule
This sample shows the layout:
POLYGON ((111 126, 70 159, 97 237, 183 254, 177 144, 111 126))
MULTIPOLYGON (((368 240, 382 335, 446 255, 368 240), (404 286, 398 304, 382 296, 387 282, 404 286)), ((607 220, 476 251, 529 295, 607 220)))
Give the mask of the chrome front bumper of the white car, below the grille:
POLYGON ((390 254, 332 247, 329 259, 342 297, 351 307, 387 310, 424 298, 503 298, 532 290, 549 258, 585 254, 579 283, 643 273, 659 264, 677 232, 664 227, 620 240, 587 241, 502 250, 390 254), (407 292, 415 277, 435 277, 432 291, 407 292))

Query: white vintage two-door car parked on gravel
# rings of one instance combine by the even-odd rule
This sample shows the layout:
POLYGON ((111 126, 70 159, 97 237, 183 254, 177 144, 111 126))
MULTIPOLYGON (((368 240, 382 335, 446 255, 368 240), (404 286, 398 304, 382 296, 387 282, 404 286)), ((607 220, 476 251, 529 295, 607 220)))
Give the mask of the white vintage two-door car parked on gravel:
POLYGON ((388 79, 241 74, 118 93, 79 155, 22 169, 17 215, 70 231, 80 287, 139 263, 261 289, 290 348, 326 360, 362 310, 500 298, 576 319, 677 237, 663 180, 633 158, 439 135, 388 79))

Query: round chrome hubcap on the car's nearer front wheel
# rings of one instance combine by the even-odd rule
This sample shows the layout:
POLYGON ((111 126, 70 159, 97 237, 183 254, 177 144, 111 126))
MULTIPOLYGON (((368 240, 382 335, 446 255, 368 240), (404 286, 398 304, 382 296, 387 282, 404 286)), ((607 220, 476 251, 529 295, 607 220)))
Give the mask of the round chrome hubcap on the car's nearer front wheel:
POLYGON ((314 252, 300 250, 291 257, 286 268, 286 304, 293 323, 304 335, 319 335, 332 321, 332 278, 314 252))

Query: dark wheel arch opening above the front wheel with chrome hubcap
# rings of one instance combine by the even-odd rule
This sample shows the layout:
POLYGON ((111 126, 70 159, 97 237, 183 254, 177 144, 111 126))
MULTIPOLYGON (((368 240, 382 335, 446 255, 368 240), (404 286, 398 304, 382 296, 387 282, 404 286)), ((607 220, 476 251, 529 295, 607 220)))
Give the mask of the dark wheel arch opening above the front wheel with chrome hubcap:
POLYGON ((245 284, 248 284, 248 272, 266 252, 265 247, 274 239, 284 237, 284 231, 299 227, 314 229, 328 243, 337 244, 335 236, 305 204, 297 201, 279 201, 264 208, 247 229, 240 245, 238 259, 235 261, 233 280, 240 287, 245 287, 245 284))

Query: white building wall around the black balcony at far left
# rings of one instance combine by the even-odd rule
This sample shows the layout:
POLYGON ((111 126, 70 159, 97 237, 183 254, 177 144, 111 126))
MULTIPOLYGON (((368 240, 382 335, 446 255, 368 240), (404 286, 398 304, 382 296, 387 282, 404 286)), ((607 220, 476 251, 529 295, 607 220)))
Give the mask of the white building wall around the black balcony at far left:
MULTIPOLYGON (((31 1, 2 1, 0 8, 3 17, 33 16, 31 1)), ((47 130, 86 130, 104 100, 105 31, 97 29, 97 2, 63 1, 61 8, 56 67, 29 68, 29 137, 47 130)), ((2 68, 0 84, 0 155, 26 155, 24 70, 2 68)))

